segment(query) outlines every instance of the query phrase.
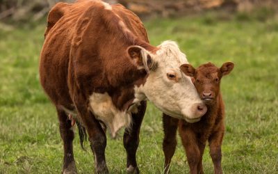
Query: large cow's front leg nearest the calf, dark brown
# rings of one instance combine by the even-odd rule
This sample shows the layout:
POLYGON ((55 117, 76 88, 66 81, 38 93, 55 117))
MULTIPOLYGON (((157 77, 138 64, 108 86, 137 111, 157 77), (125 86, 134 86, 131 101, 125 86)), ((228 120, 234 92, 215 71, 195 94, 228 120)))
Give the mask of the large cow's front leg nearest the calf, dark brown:
POLYGON ((139 173, 136 162, 136 151, 139 145, 139 134, 142 120, 145 115, 147 103, 141 102, 138 112, 132 113, 132 122, 129 129, 124 131, 124 148, 126 149, 126 171, 128 173, 139 173))

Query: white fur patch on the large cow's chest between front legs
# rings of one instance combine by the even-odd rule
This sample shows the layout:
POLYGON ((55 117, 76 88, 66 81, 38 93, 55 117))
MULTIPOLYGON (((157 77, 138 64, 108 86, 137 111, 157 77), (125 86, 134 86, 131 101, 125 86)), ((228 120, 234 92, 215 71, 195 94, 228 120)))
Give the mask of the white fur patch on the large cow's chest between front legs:
POLYGON ((93 93, 90 95, 90 109, 97 120, 104 122, 115 138, 122 127, 131 125, 131 111, 120 111, 115 107, 108 93, 93 93))

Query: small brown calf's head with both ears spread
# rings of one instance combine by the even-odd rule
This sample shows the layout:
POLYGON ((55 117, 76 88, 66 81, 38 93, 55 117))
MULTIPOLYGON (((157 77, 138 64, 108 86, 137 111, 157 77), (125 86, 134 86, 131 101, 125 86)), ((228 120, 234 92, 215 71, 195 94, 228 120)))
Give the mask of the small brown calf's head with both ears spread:
POLYGON ((224 63, 221 68, 216 67, 213 63, 200 65, 196 70, 190 64, 181 65, 181 70, 188 76, 193 77, 199 96, 207 104, 214 104, 219 91, 220 80, 233 70, 234 63, 224 63))

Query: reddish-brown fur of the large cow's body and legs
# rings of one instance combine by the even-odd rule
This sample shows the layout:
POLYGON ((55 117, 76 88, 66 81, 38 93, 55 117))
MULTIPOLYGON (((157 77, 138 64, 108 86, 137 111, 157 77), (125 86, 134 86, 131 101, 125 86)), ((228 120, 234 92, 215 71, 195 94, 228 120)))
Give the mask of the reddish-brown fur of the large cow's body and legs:
MULTIPOLYGON (((131 60, 136 54, 132 48, 127 52, 127 48, 139 45, 149 52, 156 52, 157 48, 149 45, 147 32, 135 14, 119 4, 106 10, 97 0, 57 3, 49 12, 44 37, 40 82, 58 112, 64 142, 63 173, 76 173, 74 132, 63 108, 77 111, 79 122, 88 132, 95 172, 108 173, 106 135, 88 109, 88 98, 92 93, 108 93, 117 109, 128 109, 134 99, 134 86, 145 83, 147 72, 136 68, 131 60), (124 31, 120 21, 131 32, 124 31)), ((139 172, 136 150, 145 108, 146 103, 141 102, 138 113, 132 115, 131 129, 124 133, 126 167, 133 166, 134 172, 139 172)))

